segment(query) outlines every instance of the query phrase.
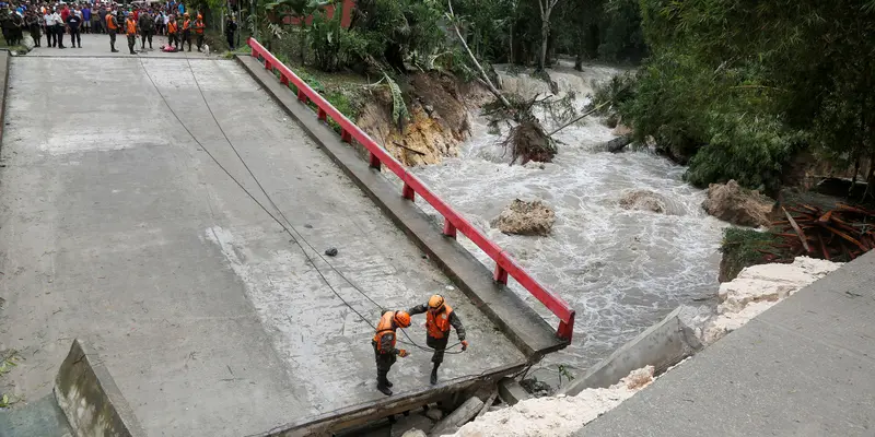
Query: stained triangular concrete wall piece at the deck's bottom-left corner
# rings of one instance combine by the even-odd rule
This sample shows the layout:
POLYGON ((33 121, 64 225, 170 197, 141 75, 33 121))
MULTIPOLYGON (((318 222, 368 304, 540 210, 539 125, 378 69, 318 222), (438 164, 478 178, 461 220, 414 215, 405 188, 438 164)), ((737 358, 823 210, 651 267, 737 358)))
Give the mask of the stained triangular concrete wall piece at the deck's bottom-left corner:
POLYGON ((78 339, 58 370, 55 398, 77 436, 145 437, 97 354, 78 339))

